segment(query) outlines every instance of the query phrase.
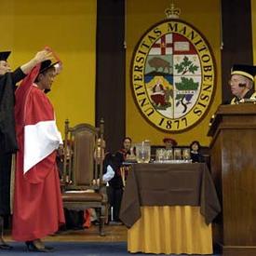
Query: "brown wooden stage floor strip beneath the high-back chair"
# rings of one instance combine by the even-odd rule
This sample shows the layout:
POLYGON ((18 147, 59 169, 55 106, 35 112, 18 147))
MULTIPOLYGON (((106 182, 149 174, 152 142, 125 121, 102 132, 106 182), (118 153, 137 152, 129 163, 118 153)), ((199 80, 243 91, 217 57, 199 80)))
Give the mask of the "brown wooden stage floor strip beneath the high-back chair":
MULTIPOLYGON (((92 225, 83 230, 68 230, 54 236, 47 236, 45 241, 71 242, 126 242, 127 228, 125 225, 105 225, 106 236, 99 235, 99 227, 92 225)), ((5 240, 12 241, 10 231, 5 232, 5 240)))

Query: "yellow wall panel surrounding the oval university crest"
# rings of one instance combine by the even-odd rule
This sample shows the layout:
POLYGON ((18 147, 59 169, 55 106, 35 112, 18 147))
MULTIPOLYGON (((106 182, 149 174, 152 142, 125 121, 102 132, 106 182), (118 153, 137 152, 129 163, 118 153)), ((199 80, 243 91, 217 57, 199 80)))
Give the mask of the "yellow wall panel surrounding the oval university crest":
POLYGON ((220 1, 195 0, 175 1, 177 7, 182 9, 181 19, 185 20, 204 34, 213 50, 217 64, 217 85, 215 97, 212 101, 208 115, 203 121, 179 134, 167 134, 151 126, 140 114, 130 89, 129 66, 132 52, 136 44, 152 25, 165 19, 164 10, 169 7, 169 0, 128 0, 127 1, 127 135, 133 141, 149 139, 153 144, 161 144, 166 136, 175 138, 180 145, 189 144, 192 140, 201 141, 205 146, 209 145, 207 137, 210 116, 214 114, 221 102, 221 49, 220 49, 220 1))

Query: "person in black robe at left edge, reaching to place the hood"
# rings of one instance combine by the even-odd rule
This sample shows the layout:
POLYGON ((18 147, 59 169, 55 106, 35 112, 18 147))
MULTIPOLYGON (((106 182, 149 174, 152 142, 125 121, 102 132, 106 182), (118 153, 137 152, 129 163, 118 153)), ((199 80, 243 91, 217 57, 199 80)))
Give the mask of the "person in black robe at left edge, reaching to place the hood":
POLYGON ((4 218, 10 213, 11 158, 18 150, 14 121, 16 84, 35 65, 51 57, 49 50, 37 52, 34 59, 11 72, 7 58, 10 51, 0 52, 0 249, 11 249, 4 241, 4 218))

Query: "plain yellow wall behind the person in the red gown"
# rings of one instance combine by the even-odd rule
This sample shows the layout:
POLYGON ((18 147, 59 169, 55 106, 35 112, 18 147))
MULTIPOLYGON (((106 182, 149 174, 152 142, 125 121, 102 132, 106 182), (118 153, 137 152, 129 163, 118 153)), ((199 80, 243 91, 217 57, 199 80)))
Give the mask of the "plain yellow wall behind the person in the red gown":
POLYGON ((63 61, 63 71, 48 94, 58 126, 95 119, 96 0, 0 0, 0 50, 12 50, 12 67, 45 46, 63 61))

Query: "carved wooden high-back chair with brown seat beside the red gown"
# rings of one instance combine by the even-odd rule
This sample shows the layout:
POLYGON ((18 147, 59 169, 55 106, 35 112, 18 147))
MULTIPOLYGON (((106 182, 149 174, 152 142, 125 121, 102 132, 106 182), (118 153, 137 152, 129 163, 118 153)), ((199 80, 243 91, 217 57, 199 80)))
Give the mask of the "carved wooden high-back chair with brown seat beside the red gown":
POLYGON ((62 200, 66 209, 96 209, 100 235, 104 236, 107 218, 106 186, 102 182, 103 121, 100 128, 65 122, 62 200), (101 139, 100 145, 98 139, 101 139), (96 157, 98 153, 98 157, 96 157))

